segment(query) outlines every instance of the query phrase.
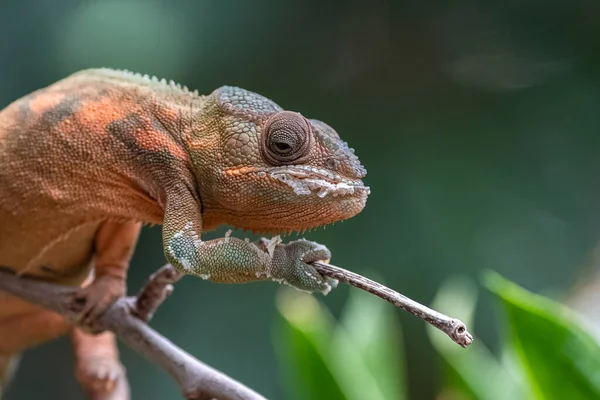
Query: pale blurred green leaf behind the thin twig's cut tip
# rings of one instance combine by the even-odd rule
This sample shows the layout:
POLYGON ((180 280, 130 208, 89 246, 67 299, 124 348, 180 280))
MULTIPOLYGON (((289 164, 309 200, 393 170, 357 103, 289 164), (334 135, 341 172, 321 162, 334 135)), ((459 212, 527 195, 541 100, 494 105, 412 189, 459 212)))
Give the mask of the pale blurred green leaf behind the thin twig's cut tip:
MULTIPOLYGON (((473 329, 473 314, 477 304, 477 287, 466 278, 453 278, 442 285, 432 308, 461 319, 473 329)), ((445 388, 461 392, 461 398, 479 400, 528 399, 518 378, 511 374, 484 343, 475 337, 466 349, 433 326, 427 326, 431 343, 442 356, 446 367, 445 388)))

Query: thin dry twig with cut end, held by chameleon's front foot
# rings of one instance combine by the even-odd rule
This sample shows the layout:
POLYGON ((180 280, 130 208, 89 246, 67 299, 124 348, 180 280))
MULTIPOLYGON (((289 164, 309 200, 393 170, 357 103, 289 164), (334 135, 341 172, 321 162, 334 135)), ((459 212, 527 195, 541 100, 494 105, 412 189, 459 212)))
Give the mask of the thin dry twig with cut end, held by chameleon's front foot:
POLYGON ((367 279, 362 275, 355 274, 354 272, 319 261, 312 263, 312 265, 321 275, 337 279, 340 282, 347 283, 374 294, 375 296, 392 303, 396 307, 400 307, 425 320, 450 336, 450 339, 454 340, 454 342, 462 347, 467 347, 473 342, 473 336, 467 331, 467 326, 461 320, 450 318, 447 315, 425 307, 380 283, 367 279))

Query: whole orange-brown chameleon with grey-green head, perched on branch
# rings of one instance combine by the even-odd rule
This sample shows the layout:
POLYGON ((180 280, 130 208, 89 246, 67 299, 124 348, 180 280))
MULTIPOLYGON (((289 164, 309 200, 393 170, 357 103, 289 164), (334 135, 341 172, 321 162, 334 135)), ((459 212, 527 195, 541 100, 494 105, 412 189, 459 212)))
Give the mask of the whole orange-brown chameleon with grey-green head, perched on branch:
POLYGON ((75 327, 0 292, 0 382, 24 350, 70 334, 82 385, 114 390, 115 339, 85 326, 125 294, 145 225, 162 225, 164 256, 185 275, 327 294, 337 281, 310 264, 327 247, 278 235, 360 213, 365 175, 332 127, 235 86, 201 95, 92 68, 12 102, 0 111, 0 266, 76 287, 84 306, 75 327), (223 224, 276 236, 202 240, 223 224))

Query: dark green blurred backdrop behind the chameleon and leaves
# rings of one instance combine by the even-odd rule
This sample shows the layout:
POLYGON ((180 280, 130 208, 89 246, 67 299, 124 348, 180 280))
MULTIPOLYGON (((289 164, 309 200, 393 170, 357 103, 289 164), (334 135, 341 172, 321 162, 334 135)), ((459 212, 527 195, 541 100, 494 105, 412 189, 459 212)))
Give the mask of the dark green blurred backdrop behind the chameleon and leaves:
MULTIPOLYGON (((560 298, 593 258, 596 2, 2 0, 0 107, 89 67, 200 93, 236 85, 333 126, 366 166, 372 194, 355 218, 306 237, 326 244, 332 263, 424 304, 453 276, 479 285, 485 269, 560 298)), ((160 227, 146 228, 130 292, 163 263, 160 227)), ((339 316, 354 290, 317 297, 339 316)), ((280 291, 188 277, 152 325, 269 399, 287 398, 280 291)), ((407 398, 434 399, 443 363, 426 326, 392 311, 407 398)), ((470 330, 491 351, 503 332, 497 311, 481 290, 470 330)), ((178 398, 165 374, 121 348, 134 399, 178 398)), ((6 398, 81 398, 72 370, 66 339, 36 348, 6 398)))

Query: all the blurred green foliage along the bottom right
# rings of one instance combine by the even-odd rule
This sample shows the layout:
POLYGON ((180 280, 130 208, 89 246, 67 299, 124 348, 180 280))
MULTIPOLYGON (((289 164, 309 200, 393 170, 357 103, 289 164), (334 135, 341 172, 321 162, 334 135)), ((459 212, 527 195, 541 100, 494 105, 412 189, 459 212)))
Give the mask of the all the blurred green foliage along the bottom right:
MULTIPOLYGON (((504 309, 497 357, 477 338, 467 349, 428 326, 444 360, 440 400, 600 399, 600 345, 577 314, 489 272, 486 286, 504 309)), ((452 279, 433 306, 473 321, 477 290, 452 279)), ((353 292, 336 321, 317 300, 284 293, 277 330, 289 399, 405 399, 405 360, 397 316, 383 301, 353 292), (340 346, 341 344, 341 346, 340 346)), ((434 380, 436 377, 431 375, 434 380)))

